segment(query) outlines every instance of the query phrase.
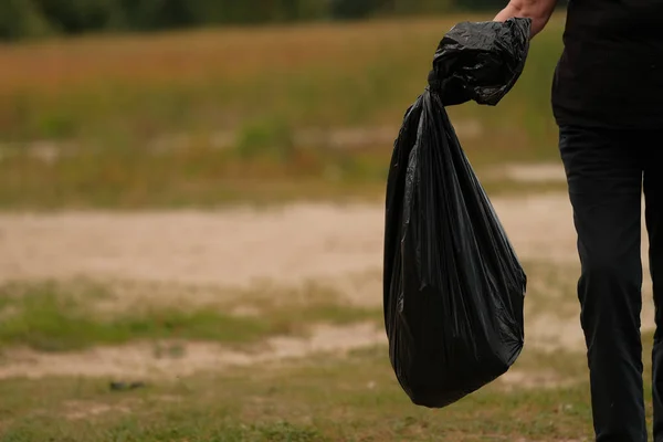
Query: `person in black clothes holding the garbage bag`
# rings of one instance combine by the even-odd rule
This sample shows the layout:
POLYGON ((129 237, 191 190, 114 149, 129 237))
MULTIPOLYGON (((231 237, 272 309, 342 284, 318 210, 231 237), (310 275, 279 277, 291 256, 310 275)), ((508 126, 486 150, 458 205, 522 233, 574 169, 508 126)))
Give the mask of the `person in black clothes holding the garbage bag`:
MULTIPOLYGON (((532 19, 555 0, 512 0, 496 17, 532 19)), ((663 442, 663 1, 570 0, 552 76, 581 275, 596 441, 646 441, 641 343, 644 191, 655 304, 653 434, 663 442)))

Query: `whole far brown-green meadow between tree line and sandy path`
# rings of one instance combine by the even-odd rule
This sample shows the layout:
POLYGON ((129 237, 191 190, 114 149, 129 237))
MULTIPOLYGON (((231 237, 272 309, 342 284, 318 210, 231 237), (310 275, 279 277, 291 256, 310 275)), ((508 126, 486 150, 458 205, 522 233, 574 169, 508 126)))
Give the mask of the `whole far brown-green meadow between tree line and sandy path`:
MULTIPOLYGON (((0 72, 0 207, 380 196, 436 44, 469 19, 486 17, 0 46, 11 66, 0 72)), ((498 108, 451 109, 478 168, 557 159, 549 90, 560 25, 537 38, 498 108)))

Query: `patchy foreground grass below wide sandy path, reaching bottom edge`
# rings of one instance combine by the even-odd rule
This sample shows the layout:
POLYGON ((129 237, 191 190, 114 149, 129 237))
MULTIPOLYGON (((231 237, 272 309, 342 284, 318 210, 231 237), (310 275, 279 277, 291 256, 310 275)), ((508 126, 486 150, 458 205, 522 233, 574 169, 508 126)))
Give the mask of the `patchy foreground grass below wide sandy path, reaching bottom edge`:
MULTIPOLYGON (((526 269, 534 272, 535 287, 546 287, 529 293, 529 311, 568 316, 565 308, 572 299, 550 298, 569 282, 564 277, 568 272, 536 271, 544 269, 543 263, 527 263, 526 269)), ((504 378, 435 411, 409 402, 382 343, 345 351, 305 350, 297 357, 255 356, 254 362, 239 365, 225 365, 219 358, 194 372, 187 369, 201 357, 196 355, 196 343, 215 341, 223 348, 260 355, 265 351, 261 350, 264 339, 293 336, 292 347, 320 322, 369 320, 380 334, 377 306, 344 307, 340 297, 314 290, 301 295, 270 294, 271 299, 285 299, 278 305, 248 293, 214 296, 213 304, 197 303, 191 296, 194 292, 181 287, 152 294, 149 304, 131 303, 118 293, 84 282, 2 288, 0 339, 6 350, 0 354, 0 441, 590 440, 587 370, 578 349, 548 351, 529 346, 504 378), (188 293, 188 302, 169 295, 182 292, 188 293), (179 307, 175 317, 170 302, 179 307), (248 318, 228 316, 239 306, 254 313, 248 318), (133 366, 133 348, 141 341, 151 352, 144 359, 165 364, 160 371, 133 366), (25 358, 24 350, 17 352, 17 345, 46 351, 44 357, 54 359, 45 359, 44 365, 62 365, 69 357, 80 368, 105 365, 105 370, 78 377, 55 375, 57 370, 46 367, 36 375, 35 360, 42 356, 34 352, 24 376, 7 377, 3 370, 25 358), (122 370, 109 370, 113 361, 102 354, 85 352, 109 345, 120 345, 115 364, 126 359, 122 370)), ((651 334, 644 339, 648 354, 651 334)), ((649 382, 645 387, 649 390, 649 382)))

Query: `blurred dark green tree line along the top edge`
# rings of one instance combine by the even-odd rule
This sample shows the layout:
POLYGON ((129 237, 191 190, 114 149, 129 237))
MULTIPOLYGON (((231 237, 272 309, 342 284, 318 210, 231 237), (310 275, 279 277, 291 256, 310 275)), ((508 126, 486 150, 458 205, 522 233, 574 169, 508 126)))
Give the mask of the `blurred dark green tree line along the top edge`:
POLYGON ((0 0, 0 39, 210 24, 496 11, 506 0, 0 0))

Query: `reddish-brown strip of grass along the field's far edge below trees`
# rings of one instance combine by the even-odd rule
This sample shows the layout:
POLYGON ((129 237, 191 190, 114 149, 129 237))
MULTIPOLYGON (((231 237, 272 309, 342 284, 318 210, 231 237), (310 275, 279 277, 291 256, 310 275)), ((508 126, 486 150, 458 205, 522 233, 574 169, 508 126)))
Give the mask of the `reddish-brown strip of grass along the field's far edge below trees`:
MULTIPOLYGON (((95 36, 0 46, 0 93, 61 93, 101 82, 189 83, 238 78, 265 71, 317 65, 360 67, 387 48, 403 50, 403 36, 433 36, 454 18, 203 30, 139 36, 95 36)), ((433 40, 434 42, 434 40, 433 40)))

